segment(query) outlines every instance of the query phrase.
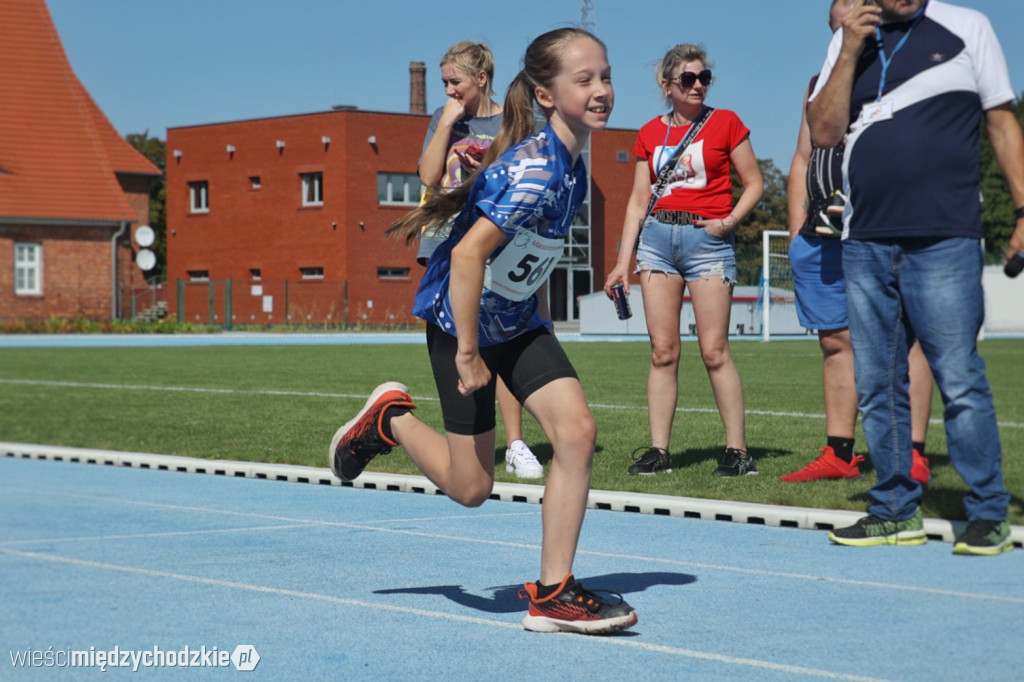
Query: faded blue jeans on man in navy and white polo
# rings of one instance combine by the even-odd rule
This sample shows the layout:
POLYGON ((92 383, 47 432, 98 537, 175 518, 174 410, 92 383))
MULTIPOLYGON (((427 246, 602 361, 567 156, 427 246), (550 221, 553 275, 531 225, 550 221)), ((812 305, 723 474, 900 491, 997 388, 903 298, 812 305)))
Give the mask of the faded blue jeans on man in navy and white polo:
POLYGON ((1002 450, 978 332, 985 318, 977 240, 904 239, 843 245, 857 400, 879 482, 868 512, 902 520, 918 509, 910 478, 907 350, 921 341, 945 407, 949 460, 971 488, 968 520, 1007 518, 1002 450))

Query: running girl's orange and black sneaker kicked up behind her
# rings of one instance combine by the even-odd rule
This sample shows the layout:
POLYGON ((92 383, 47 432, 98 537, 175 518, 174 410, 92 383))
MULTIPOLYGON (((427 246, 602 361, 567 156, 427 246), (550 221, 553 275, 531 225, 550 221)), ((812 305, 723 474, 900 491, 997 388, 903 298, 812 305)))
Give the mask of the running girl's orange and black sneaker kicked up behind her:
POLYGON ((334 475, 343 481, 355 480, 370 460, 390 453, 398 443, 384 433, 384 412, 388 408, 415 407, 404 384, 389 381, 375 388, 362 410, 338 429, 331 440, 328 457, 334 475))

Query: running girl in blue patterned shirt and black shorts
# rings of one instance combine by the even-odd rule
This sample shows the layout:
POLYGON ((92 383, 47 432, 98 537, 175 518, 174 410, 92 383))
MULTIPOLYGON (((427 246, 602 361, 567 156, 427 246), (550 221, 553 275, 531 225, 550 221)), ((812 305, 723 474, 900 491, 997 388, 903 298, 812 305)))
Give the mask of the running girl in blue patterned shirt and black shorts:
POLYGON ((434 252, 414 313, 427 348, 445 435, 418 420, 408 388, 378 386, 331 443, 335 474, 352 480, 376 455, 401 445, 450 498, 476 507, 495 480, 495 376, 548 436, 554 458, 542 507, 541 574, 527 583, 522 621, 537 632, 607 633, 636 624, 621 599, 606 601, 572 577, 587 509, 597 426, 575 371, 550 330, 538 291, 562 252, 587 187, 580 152, 604 128, 614 93, 604 44, 580 29, 547 33, 526 49, 505 117, 481 170, 435 197, 388 232, 415 237, 458 214, 434 252), (547 126, 534 131, 534 101, 547 126))

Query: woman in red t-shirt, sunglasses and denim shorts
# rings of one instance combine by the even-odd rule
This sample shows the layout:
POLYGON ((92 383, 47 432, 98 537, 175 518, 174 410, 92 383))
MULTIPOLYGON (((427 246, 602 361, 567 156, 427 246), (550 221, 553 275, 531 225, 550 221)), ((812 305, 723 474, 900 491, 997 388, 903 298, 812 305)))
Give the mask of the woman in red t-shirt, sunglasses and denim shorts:
POLYGON ((643 292, 651 365, 647 377, 650 446, 634 454, 631 474, 672 471, 669 441, 679 391, 680 314, 689 288, 697 341, 725 426, 725 453, 717 476, 758 472, 746 453, 743 387, 729 353, 729 312, 736 280, 734 232, 764 189, 750 130, 732 112, 705 104, 712 73, 702 46, 677 45, 657 71, 672 111, 640 129, 633 191, 623 223, 622 248, 604 283, 629 293, 632 245, 643 292), (710 110, 703 126, 679 156, 651 215, 644 218, 653 185, 690 127, 710 110), (730 168, 743 190, 732 203, 730 168), (638 235, 639 232, 639 235, 638 235), (638 240, 639 237, 639 240, 638 240))

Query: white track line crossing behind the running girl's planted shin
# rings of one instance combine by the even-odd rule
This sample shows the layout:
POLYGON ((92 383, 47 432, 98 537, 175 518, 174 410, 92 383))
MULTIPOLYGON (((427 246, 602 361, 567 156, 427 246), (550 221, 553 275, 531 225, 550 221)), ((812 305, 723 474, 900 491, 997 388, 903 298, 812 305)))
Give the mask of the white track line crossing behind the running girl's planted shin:
MULTIPOLYGON (((38 491, 36 495, 39 495, 38 491)), ((322 521, 316 519, 303 519, 294 518, 290 516, 276 516, 270 514, 257 514, 253 512, 239 512, 232 510, 224 509, 214 509, 210 507, 191 507, 186 505, 171 505, 156 502, 146 502, 142 500, 114 500, 101 496, 88 496, 88 495, 60 495, 62 498, 80 498, 84 500, 100 500, 109 503, 119 503, 127 505, 136 505, 140 507, 151 507, 158 509, 167 509, 170 511, 188 511, 188 512, 200 512, 200 513, 211 513, 211 514, 223 514, 226 516, 243 516, 247 518, 260 518, 267 519, 271 521, 280 521, 283 523, 297 524, 297 525, 307 525, 310 527, 322 526, 322 527, 338 527, 338 528, 348 528, 352 530, 375 530, 377 532, 386 532, 390 535, 399 536, 411 536, 415 538, 425 538, 428 540, 443 540, 449 542, 461 542, 461 543, 473 543, 477 545, 489 545, 494 547, 504 547, 511 549, 524 549, 524 550, 536 550, 540 551, 540 545, 534 545, 529 543, 514 543, 506 540, 488 540, 482 538, 468 538, 465 536, 451 536, 438 532, 426 532, 423 530, 410 530, 408 528, 385 528, 379 525, 369 525, 370 523, 382 523, 385 522, 383 519, 378 521, 365 521, 359 523, 345 522, 345 521, 322 521)), ((538 512, 540 513, 540 512, 538 512)), ((460 518, 460 517, 452 517, 460 518)), ((465 518, 473 518, 472 516, 466 515, 465 518)), ((428 519, 433 520, 433 519, 428 519)), ((8 543, 0 544, 0 551, 3 550, 2 545, 8 543)), ((584 550, 580 549, 577 551, 577 555, 587 555, 596 556, 602 558, 611 559, 625 559, 629 561, 639 561, 648 563, 657 563, 672 566, 682 566, 686 568, 698 568, 703 570, 720 570, 729 571, 735 573, 743 573, 748 576, 761 576, 768 578, 780 578, 786 580, 797 580, 797 581, 811 581, 814 583, 830 583, 835 585, 848 585, 855 587, 866 587, 876 588, 883 590, 895 590, 899 592, 910 592, 916 594, 929 594, 929 595, 939 595, 943 597, 956 597, 962 599, 978 599, 985 601, 994 601, 1007 604, 1024 604, 1024 598, 1021 597, 1008 597, 1005 595, 992 595, 984 594, 979 592, 962 592, 958 590, 943 590, 939 588, 929 588, 921 587, 916 585, 899 585, 894 583, 880 583, 876 581, 858 581, 843 578, 834 578, 830 576, 812 576, 808 573, 793 573, 787 571, 779 570, 765 570, 764 568, 746 568, 743 566, 730 566, 725 564, 715 564, 715 563, 701 563, 697 561, 682 561, 679 559, 669 559, 655 556, 645 556, 636 554, 616 554, 613 552, 598 552, 594 550, 584 550)))

